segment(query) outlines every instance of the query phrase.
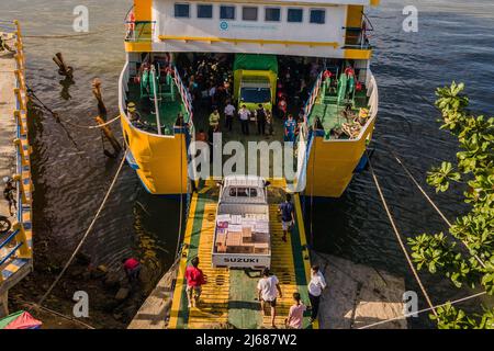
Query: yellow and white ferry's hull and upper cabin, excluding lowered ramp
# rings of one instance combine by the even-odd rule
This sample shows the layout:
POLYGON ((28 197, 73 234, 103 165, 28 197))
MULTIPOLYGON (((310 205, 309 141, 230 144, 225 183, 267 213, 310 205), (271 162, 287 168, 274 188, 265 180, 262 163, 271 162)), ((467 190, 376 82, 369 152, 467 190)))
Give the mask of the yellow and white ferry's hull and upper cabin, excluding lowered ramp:
MULTIPOLYGON (((364 14, 366 7, 378 4, 135 0, 126 19, 120 113, 128 163, 146 190, 162 195, 190 191, 188 147, 200 129, 207 131, 211 105, 204 107, 202 100, 210 98, 210 88, 218 88, 205 84, 210 77, 198 70, 213 61, 216 70, 209 73, 224 78, 222 89, 234 104, 250 87, 258 94, 254 101, 261 101, 261 93, 268 97, 262 103, 274 115, 279 100, 287 99, 300 117, 293 191, 339 197, 364 160, 378 113, 368 39, 372 25, 364 14), (310 67, 306 77, 301 67, 310 67), (199 78, 203 87, 198 88, 199 78)), ((283 122, 273 120, 274 129, 282 131, 283 122)))

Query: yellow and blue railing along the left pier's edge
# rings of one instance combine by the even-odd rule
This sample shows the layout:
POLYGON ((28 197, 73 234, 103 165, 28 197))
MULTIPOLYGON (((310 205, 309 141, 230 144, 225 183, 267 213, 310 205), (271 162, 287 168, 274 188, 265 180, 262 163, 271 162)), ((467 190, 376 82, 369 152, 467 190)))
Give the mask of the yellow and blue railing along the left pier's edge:
MULTIPOLYGON (((0 244, 0 249, 5 248, 11 242, 15 242, 14 247, 10 251, 0 257, 0 268, 7 263, 12 257, 32 259, 32 248, 30 247, 24 228, 23 212, 24 208, 31 206, 31 195, 26 195, 26 186, 31 184, 31 174, 27 178, 27 183, 23 179, 23 172, 26 167, 30 166, 29 158, 25 152, 30 152, 27 141, 27 125, 24 123, 23 116, 27 114, 27 90, 24 81, 25 57, 23 52, 21 26, 18 21, 8 22, 0 21, 0 31, 3 33, 10 33, 15 39, 15 88, 13 93, 15 97, 15 111, 13 111, 13 117, 15 118, 15 139, 13 144, 15 146, 15 174, 12 176, 13 181, 16 183, 16 223, 12 226, 4 240, 0 244), (24 147, 26 150, 24 152, 24 147), (19 254, 18 254, 19 251, 19 254)), ((29 170, 31 172, 31 170, 29 170)), ((3 281, 3 276, 0 273, 0 283, 3 281)))

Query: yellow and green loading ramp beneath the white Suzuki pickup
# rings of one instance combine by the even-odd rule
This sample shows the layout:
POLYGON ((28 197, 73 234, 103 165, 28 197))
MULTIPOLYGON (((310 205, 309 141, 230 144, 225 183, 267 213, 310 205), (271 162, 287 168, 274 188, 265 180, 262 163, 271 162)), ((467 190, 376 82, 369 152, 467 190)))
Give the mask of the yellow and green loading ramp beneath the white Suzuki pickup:
MULTIPOLYGON (((305 305, 308 305, 307 276, 310 274, 308 250, 306 249, 305 231, 300 206, 295 195, 296 226, 288 238, 281 240, 281 223, 277 216, 277 203, 284 193, 284 181, 273 180, 269 190, 270 230, 272 242, 271 272, 280 280, 283 296, 278 298, 278 327, 284 326, 284 319, 292 305, 292 294, 299 292, 305 305)), ((217 188, 206 185, 192 197, 189 218, 184 234, 184 250, 179 265, 177 282, 172 294, 170 320, 168 328, 268 328, 270 316, 262 316, 257 296, 259 271, 242 269, 213 268, 212 245, 217 203, 217 188), (203 286, 199 308, 188 308, 186 295, 184 271, 190 260, 198 256, 200 268, 207 283, 203 286)), ((311 325, 308 314, 304 316, 304 328, 317 327, 311 325)))

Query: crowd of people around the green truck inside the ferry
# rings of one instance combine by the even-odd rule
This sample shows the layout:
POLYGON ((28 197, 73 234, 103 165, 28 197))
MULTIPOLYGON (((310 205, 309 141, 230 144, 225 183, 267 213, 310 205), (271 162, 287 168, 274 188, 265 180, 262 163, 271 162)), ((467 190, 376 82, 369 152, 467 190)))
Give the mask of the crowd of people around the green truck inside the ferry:
MULTIPOLYGON (((212 140, 213 133, 232 132, 238 121, 243 135, 251 134, 252 122, 257 135, 272 136, 276 118, 283 126, 285 141, 295 141, 304 122, 304 105, 310 89, 322 69, 315 61, 304 58, 280 57, 276 102, 272 111, 258 104, 249 110, 245 104, 236 106, 233 100, 233 55, 204 54, 179 55, 177 66, 184 86, 190 92, 194 111, 205 111, 207 133, 201 128, 197 135, 212 140), (209 111, 209 112, 207 112, 209 111)), ((198 116, 198 114, 195 114, 198 116)))

